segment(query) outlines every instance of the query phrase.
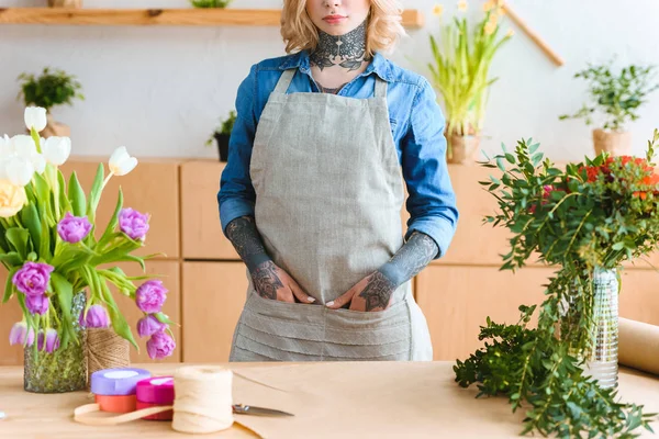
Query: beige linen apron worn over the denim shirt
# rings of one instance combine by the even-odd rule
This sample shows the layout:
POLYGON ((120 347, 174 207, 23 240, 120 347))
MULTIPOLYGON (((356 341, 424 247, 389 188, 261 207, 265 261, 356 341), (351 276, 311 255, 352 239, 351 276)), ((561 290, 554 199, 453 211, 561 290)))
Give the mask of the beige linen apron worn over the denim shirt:
POLYGON ((371 99, 286 94, 294 72, 284 70, 263 111, 250 177, 268 254, 316 302, 264 299, 247 271, 247 302, 230 360, 432 360, 411 282, 382 312, 324 306, 403 245, 403 177, 387 82, 377 78, 371 99))

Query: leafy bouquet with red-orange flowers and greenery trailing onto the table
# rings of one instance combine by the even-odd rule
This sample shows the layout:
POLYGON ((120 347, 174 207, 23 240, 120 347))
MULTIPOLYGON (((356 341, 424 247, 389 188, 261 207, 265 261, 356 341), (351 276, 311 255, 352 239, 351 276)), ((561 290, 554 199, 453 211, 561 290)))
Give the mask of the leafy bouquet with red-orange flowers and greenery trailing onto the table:
MULTIPOLYGON (((523 434, 623 438, 635 437, 640 426, 649 429, 654 415, 617 402, 614 389, 585 373, 583 359, 596 349, 593 335, 603 322, 593 312, 593 278, 601 270, 617 272, 659 243, 659 177, 651 162, 658 144, 656 131, 646 158, 604 153, 559 169, 529 139, 483 162, 502 172, 481 182, 499 201, 499 212, 485 221, 512 233, 502 269, 514 271, 538 256, 558 271, 539 306, 520 306, 516 325, 488 317, 479 336, 484 348, 454 370, 461 386, 478 383, 479 396, 505 395, 513 410, 526 404, 523 434), (536 308, 537 327, 529 328, 536 308)), ((613 294, 617 301, 617 290, 613 294)))

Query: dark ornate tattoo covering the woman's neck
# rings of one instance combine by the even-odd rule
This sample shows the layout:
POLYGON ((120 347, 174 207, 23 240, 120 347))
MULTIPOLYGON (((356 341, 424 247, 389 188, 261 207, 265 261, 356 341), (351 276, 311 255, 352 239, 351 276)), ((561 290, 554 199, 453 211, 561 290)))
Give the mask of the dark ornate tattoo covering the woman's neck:
POLYGON ((345 35, 335 36, 319 31, 319 45, 309 57, 311 65, 321 70, 340 66, 351 71, 369 61, 366 57, 366 22, 345 35))

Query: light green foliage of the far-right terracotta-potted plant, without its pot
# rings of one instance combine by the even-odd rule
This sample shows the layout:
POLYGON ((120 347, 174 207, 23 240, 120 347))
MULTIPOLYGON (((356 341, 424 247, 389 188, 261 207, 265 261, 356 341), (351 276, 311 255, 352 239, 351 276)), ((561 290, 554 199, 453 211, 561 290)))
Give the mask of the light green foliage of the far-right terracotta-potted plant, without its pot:
POLYGON ((599 111, 604 115, 604 130, 623 131, 629 121, 638 119, 638 109, 646 102, 646 97, 659 85, 650 83, 655 67, 628 66, 619 75, 611 71, 611 63, 591 66, 574 75, 589 82, 589 94, 592 103, 584 104, 577 113, 563 114, 559 119, 584 119, 587 125, 593 124, 593 114, 599 111))

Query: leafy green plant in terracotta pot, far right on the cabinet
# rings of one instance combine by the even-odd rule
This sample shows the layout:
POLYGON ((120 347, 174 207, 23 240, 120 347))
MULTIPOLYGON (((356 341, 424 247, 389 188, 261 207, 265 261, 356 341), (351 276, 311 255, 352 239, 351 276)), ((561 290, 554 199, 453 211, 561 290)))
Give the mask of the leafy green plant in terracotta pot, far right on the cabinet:
POLYGON ((650 83, 654 67, 630 65, 618 75, 611 70, 611 63, 592 66, 578 71, 574 78, 589 82, 592 103, 584 104, 577 113, 560 115, 559 119, 584 119, 587 125, 594 123, 593 115, 599 112, 603 121, 593 130, 595 155, 603 151, 612 155, 629 155, 632 133, 625 131, 625 124, 638 119, 638 110, 647 95, 659 87, 650 83))

